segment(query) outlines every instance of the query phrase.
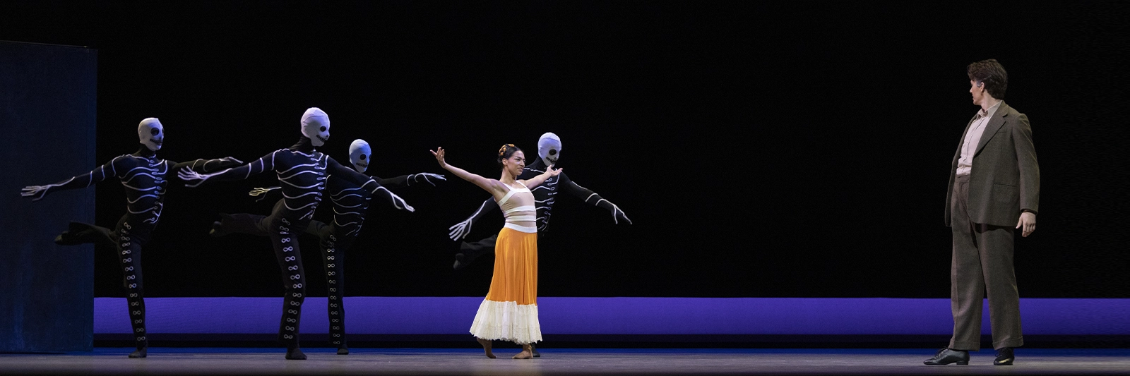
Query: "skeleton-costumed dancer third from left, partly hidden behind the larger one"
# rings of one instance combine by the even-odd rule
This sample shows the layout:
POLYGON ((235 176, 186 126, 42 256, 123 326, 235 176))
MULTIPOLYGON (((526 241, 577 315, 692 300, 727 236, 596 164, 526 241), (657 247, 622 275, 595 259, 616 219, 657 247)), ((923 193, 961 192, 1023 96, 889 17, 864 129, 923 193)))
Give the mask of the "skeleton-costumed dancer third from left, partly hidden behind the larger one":
MULTIPOLYGON (((355 140, 349 145, 349 161, 358 173, 368 169, 372 152, 368 142, 355 140)), ((383 187, 394 189, 399 186, 411 186, 412 184, 431 184, 433 181, 446 181, 443 175, 419 173, 402 175, 391 178, 380 178, 372 176, 373 181, 383 187)), ((368 183, 368 182, 366 182, 368 183)), ((367 187, 356 184, 350 180, 331 174, 327 180, 327 189, 330 192, 330 201, 333 203, 333 222, 325 225, 318 220, 310 220, 306 226, 306 234, 318 236, 322 251, 322 266, 325 269, 327 297, 330 317, 330 343, 338 347, 338 355, 348 355, 349 346, 346 342, 346 317, 345 317, 345 252, 349 250, 357 233, 360 231, 362 224, 365 222, 365 213, 368 211, 370 200, 373 193, 367 187)), ((280 190, 279 186, 254 189, 251 195, 260 196, 263 200, 268 193, 273 195, 280 190)), ((392 194, 382 190, 382 194, 392 194)), ((401 200, 402 201, 402 200, 401 200)), ((238 213, 221 215, 221 220, 212 224, 211 236, 224 236, 227 234, 250 234, 268 236, 268 231, 259 226, 263 222, 263 216, 238 213)))

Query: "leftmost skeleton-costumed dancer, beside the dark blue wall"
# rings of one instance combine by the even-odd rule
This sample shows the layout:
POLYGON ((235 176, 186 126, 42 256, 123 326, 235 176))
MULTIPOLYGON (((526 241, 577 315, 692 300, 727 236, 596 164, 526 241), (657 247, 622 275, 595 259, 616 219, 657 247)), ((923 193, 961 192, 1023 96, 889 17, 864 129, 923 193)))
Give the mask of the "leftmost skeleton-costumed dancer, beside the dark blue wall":
POLYGON ((82 189, 118 177, 125 187, 127 213, 118 220, 113 231, 107 228, 81 222, 70 222, 69 229, 55 238, 60 245, 77 245, 84 243, 110 244, 118 248, 125 288, 125 300, 129 304, 130 322, 133 326, 133 340, 137 350, 130 358, 145 358, 149 341, 146 339, 145 325, 145 289, 141 280, 141 247, 149 242, 149 235, 157 227, 165 206, 165 190, 168 181, 165 175, 169 169, 181 168, 209 172, 238 166, 243 164, 235 158, 197 159, 175 163, 157 157, 157 150, 165 140, 164 126, 156 117, 148 117, 138 124, 138 138, 141 147, 133 154, 118 156, 94 170, 69 180, 47 185, 26 186, 20 195, 40 201, 47 193, 63 190, 82 189))

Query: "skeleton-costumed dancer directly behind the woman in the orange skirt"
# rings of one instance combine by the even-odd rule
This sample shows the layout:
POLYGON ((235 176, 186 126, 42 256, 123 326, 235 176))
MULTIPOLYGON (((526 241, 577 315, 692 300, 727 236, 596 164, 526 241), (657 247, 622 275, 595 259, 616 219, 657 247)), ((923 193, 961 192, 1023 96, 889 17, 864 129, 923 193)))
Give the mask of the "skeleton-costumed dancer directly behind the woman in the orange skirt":
MULTIPOLYGON (((545 173, 546 166, 557 163, 557 158, 560 156, 560 139, 558 139, 554 133, 542 134, 541 139, 538 140, 538 155, 539 158, 537 160, 522 169, 522 175, 518 177, 519 180, 533 178, 534 176, 545 173)), ((624 215, 624 211, 620 210, 619 207, 601 198, 600 194, 576 184, 570 180, 565 173, 560 173, 557 176, 546 180, 545 183, 532 190, 536 201, 534 204, 538 209, 537 226, 539 237, 549 229, 549 218, 553 216, 554 203, 557 201, 557 193, 563 191, 583 200, 588 204, 608 210, 611 212, 612 220, 616 224, 619 224, 620 221, 626 221, 628 224, 632 222, 632 220, 624 215)), ((498 206, 494 202, 494 199, 488 198, 483 202, 483 204, 479 206, 478 210, 476 210, 471 217, 450 228, 451 233, 449 235, 451 239, 458 241, 466 238, 471 230, 471 225, 485 217, 488 212, 494 211, 496 207, 498 206)), ((476 257, 486 253, 493 253, 496 237, 497 235, 475 243, 461 243, 461 253, 455 255, 454 268, 466 268, 476 257)))

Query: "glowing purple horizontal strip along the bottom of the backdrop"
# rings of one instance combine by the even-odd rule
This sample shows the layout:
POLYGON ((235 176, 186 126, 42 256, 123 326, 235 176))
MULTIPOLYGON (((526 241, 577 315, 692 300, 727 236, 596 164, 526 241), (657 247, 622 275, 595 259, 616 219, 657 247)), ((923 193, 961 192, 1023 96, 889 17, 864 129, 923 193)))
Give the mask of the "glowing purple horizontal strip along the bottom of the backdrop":
MULTIPOLYGON (((358 334, 463 334, 481 297, 347 297, 358 334)), ((327 333, 306 298, 303 333, 327 333)), ((282 298, 147 298, 149 333, 276 333, 282 298)), ((546 334, 949 334, 949 299, 538 298, 546 334)), ((1130 334, 1130 299, 1020 299, 1025 334, 1130 334)), ((989 333, 985 307, 982 332, 989 333)), ((94 299, 95 333, 130 333, 124 298, 94 299)))

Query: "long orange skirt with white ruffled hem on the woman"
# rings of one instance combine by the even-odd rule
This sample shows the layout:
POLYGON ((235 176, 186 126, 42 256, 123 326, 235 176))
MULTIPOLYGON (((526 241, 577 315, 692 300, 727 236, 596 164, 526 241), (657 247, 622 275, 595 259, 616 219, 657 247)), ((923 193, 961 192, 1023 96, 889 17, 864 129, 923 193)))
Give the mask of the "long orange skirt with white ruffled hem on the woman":
POLYGON ((503 228, 495 243, 490 291, 479 305, 471 334, 515 343, 541 341, 538 322, 538 234, 503 228))

